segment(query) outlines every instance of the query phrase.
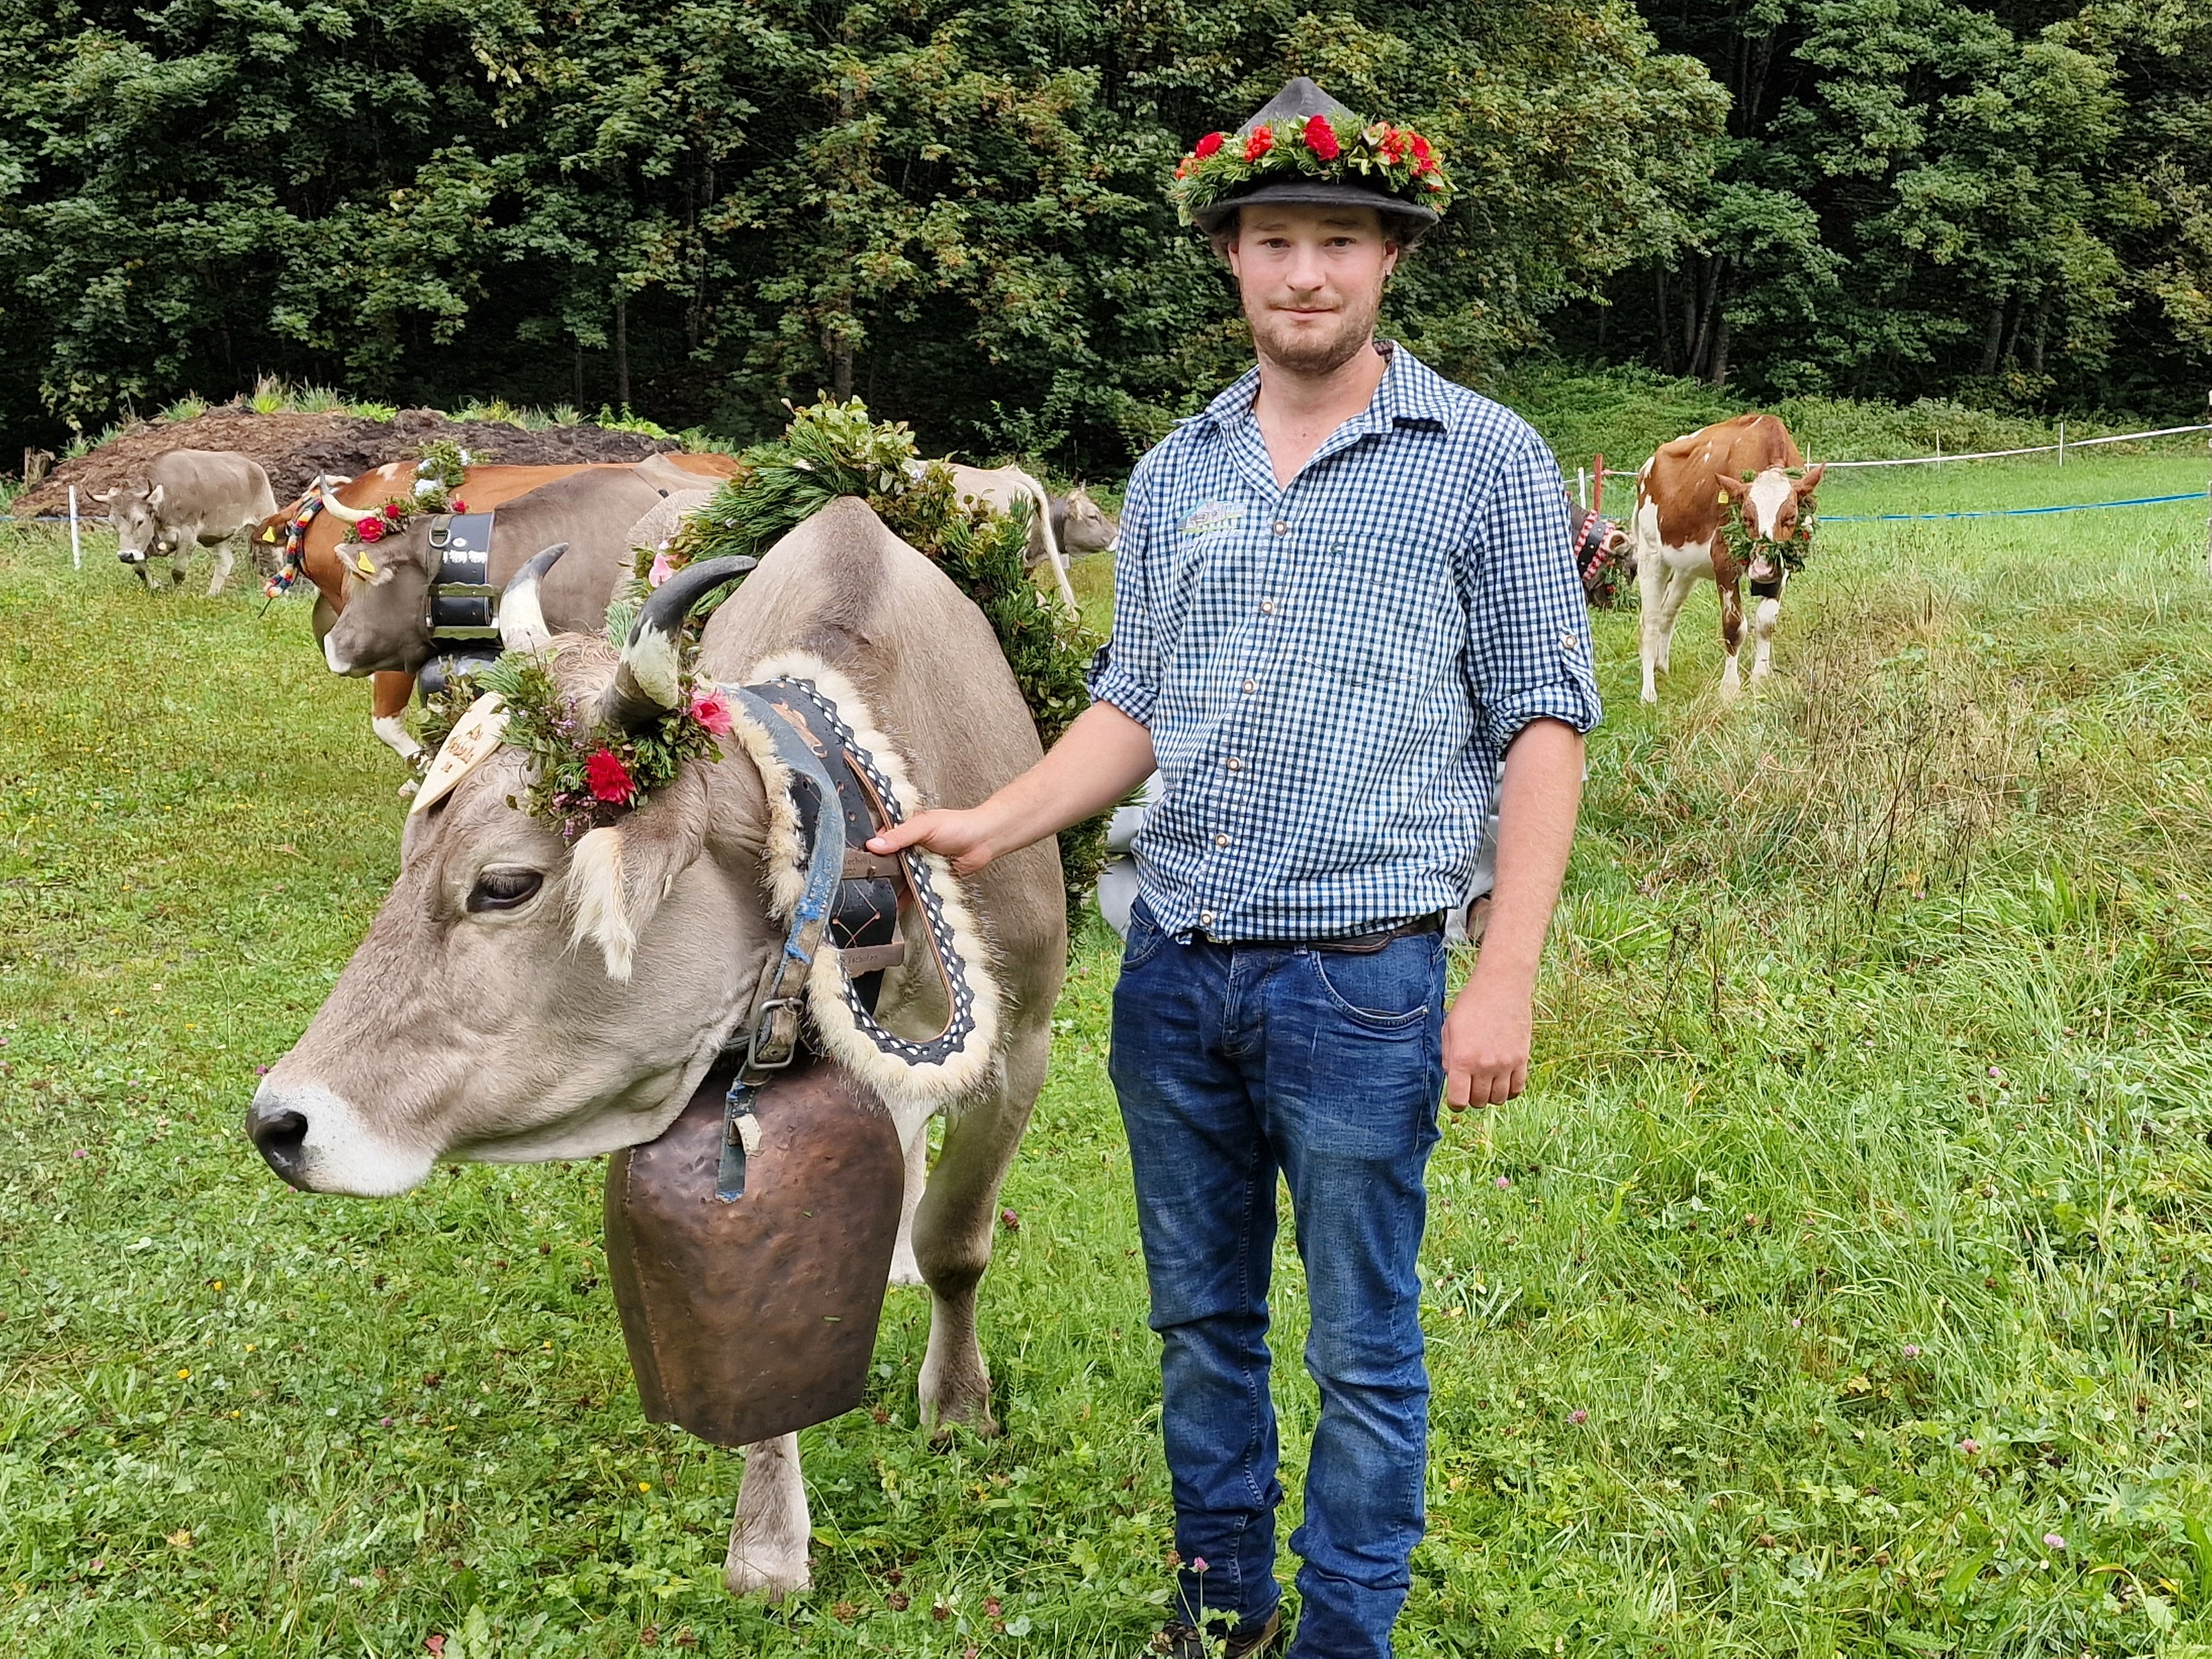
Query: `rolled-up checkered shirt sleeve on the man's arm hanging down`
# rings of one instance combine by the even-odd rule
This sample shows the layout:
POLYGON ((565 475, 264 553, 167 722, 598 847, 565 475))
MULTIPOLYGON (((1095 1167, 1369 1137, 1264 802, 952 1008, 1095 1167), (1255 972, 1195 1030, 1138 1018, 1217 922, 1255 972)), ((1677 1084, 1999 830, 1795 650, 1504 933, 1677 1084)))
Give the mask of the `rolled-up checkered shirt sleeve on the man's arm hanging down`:
POLYGON ((1568 544, 1559 465, 1535 431, 1475 515, 1467 584, 1467 690, 1493 754, 1535 719, 1588 732, 1604 717, 1590 611, 1568 544))

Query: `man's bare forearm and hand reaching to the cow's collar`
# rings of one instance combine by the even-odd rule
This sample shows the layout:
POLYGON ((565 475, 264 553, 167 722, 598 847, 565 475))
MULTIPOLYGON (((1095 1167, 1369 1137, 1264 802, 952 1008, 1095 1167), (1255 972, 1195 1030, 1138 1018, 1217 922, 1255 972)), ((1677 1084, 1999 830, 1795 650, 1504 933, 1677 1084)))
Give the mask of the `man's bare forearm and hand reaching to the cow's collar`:
MULTIPOLYGON (((1104 812, 1150 774, 1152 734, 1113 703, 1093 703, 1053 743, 1051 754, 980 807, 916 812, 869 841, 867 849, 891 854, 920 843, 951 858, 953 872, 967 876, 1002 854, 1104 812)), ((1500 860, 1502 856, 1500 847, 1500 860)), ((1504 863, 1498 872, 1502 883, 1504 863)))

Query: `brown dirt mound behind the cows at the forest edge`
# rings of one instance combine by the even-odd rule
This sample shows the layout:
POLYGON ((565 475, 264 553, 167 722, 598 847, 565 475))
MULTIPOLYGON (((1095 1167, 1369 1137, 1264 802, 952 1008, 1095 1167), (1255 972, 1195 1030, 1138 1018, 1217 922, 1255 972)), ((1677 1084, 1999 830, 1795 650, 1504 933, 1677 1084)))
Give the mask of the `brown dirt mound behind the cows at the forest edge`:
POLYGON ((436 409, 400 409, 392 420, 341 414, 254 414, 210 409, 190 420, 139 420, 86 456, 64 460, 38 489, 15 498, 20 518, 69 511, 69 487, 77 487, 77 511, 97 515, 95 489, 115 489, 146 462, 170 449, 234 449, 252 456, 270 476, 276 502, 307 489, 316 473, 361 473, 387 460, 407 460, 434 438, 451 438, 480 460, 509 467, 568 467, 586 460, 644 460, 661 449, 679 449, 668 438, 606 427, 544 427, 524 431, 504 420, 447 420, 436 409))

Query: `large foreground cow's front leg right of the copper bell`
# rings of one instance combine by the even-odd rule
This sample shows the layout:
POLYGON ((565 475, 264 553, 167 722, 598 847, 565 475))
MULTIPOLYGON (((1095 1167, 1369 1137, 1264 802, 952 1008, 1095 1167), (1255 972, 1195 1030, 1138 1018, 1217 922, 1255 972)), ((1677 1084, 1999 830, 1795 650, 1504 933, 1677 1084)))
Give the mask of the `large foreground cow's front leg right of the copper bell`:
POLYGON ((945 1119, 945 1150, 914 1217, 914 1256, 929 1285, 929 1352, 922 1358, 922 1422, 942 1431, 964 1422, 998 1433, 991 1371, 975 1340, 975 1285, 991 1265, 998 1188, 1044 1086, 1051 1026, 1031 1029, 1006 1048, 998 1086, 945 1119))

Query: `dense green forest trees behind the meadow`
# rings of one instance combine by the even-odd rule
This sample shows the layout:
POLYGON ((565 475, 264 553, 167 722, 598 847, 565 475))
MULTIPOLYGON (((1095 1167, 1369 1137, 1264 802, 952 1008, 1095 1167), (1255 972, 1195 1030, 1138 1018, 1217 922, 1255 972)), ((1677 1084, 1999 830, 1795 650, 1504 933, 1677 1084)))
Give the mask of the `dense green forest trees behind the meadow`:
POLYGON ((2203 0, 0 0, 0 445, 272 374, 1113 471, 1248 361, 1161 186, 1292 73, 1449 146, 1387 321, 1478 385, 2203 407, 2203 0))

